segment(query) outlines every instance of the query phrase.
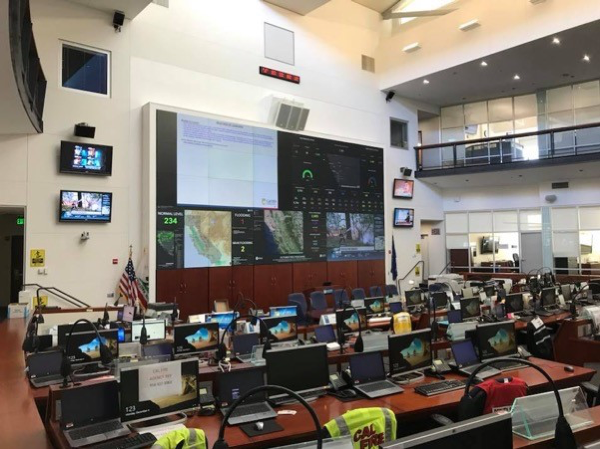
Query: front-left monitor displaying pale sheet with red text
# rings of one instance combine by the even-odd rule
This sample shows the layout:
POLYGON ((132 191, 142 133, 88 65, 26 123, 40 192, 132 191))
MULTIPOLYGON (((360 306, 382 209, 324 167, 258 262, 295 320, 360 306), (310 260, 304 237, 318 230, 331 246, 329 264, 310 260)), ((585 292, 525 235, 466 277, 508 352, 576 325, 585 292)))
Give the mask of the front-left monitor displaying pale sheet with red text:
POLYGON ((197 359, 121 369, 121 421, 123 422, 131 423, 167 416, 197 406, 197 359), (159 384, 161 381, 162 385, 159 384))

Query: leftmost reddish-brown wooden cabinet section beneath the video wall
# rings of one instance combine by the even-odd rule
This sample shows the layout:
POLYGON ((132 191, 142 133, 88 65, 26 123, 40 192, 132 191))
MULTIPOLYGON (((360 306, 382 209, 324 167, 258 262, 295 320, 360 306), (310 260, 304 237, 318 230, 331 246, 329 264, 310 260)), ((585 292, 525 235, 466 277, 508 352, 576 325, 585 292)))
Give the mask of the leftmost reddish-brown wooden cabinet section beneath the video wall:
POLYGON ((182 320, 208 312, 208 268, 158 270, 156 301, 177 302, 182 320))

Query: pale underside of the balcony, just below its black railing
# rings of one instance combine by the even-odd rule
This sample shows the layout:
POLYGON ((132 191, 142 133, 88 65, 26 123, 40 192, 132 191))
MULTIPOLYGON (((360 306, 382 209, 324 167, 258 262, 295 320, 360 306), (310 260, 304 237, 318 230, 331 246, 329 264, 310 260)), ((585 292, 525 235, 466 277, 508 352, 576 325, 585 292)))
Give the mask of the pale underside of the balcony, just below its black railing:
POLYGON ((433 176, 419 178, 441 189, 459 189, 472 187, 503 187, 527 185, 540 182, 558 182, 571 179, 597 178, 600 161, 577 164, 553 165, 550 167, 532 167, 515 170, 502 170, 463 175, 433 176))

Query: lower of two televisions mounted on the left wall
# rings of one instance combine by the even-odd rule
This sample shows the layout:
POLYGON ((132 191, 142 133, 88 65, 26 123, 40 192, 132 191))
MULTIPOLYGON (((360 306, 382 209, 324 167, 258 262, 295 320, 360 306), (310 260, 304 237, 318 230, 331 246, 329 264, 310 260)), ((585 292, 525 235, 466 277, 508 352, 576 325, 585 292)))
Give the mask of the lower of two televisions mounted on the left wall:
POLYGON ((110 223, 112 193, 61 190, 59 221, 110 223))

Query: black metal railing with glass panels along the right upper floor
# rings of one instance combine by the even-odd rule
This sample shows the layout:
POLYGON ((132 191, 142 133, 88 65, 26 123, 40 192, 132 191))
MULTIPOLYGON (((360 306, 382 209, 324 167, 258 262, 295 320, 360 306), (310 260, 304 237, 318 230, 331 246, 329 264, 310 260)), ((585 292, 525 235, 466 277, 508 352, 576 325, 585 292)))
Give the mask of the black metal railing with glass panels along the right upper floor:
POLYGON ((415 147, 417 171, 600 153, 600 122, 415 147))

